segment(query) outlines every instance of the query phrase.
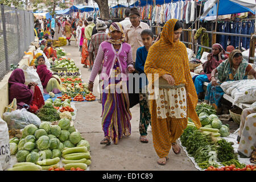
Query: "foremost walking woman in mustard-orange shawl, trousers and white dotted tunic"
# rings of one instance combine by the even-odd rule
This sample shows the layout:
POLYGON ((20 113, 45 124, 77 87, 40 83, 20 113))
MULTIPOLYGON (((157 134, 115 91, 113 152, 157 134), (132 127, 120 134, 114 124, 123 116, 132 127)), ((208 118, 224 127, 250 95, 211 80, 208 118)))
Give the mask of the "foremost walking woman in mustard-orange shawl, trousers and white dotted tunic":
POLYGON ((201 127, 187 49, 179 41, 181 32, 182 24, 177 19, 168 20, 160 40, 150 47, 144 65, 148 86, 152 88, 149 90, 152 137, 160 165, 166 164, 171 147, 175 154, 180 153, 176 140, 187 127, 188 117, 197 128, 201 127))

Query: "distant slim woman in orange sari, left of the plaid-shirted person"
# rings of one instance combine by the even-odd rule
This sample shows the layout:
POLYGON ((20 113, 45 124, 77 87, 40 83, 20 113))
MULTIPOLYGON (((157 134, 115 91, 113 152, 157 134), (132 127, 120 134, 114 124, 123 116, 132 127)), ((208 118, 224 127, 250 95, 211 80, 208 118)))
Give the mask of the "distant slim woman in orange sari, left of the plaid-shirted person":
POLYGON ((89 56, 88 46, 87 46, 88 40, 85 38, 85 35, 84 35, 84 30, 86 26, 88 26, 88 23, 86 20, 84 20, 84 27, 82 27, 81 29, 81 38, 80 38, 80 40, 82 39, 82 37, 84 38, 82 42, 82 58, 81 58, 81 64, 84 64, 83 65, 84 68, 87 68, 87 66, 92 67, 92 65, 90 65, 89 57, 88 57, 89 56))

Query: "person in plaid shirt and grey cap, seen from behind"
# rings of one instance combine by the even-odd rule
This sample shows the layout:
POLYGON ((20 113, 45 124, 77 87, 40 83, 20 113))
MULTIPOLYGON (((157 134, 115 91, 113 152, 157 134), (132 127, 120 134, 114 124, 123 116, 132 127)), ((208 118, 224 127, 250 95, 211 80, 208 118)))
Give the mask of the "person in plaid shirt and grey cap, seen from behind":
MULTIPOLYGON (((100 44, 105 40, 109 39, 108 35, 106 35, 106 28, 107 26, 104 21, 96 24, 96 30, 98 31, 98 33, 92 36, 92 38, 90 39, 91 40, 90 46, 88 48, 90 63, 93 63, 94 60, 96 59, 96 56, 98 53, 98 47, 100 47, 100 44)), ((102 70, 102 65, 100 67, 100 71, 98 72, 98 74, 101 73, 101 70, 102 70)), ((101 103, 101 97, 99 102, 101 103)))

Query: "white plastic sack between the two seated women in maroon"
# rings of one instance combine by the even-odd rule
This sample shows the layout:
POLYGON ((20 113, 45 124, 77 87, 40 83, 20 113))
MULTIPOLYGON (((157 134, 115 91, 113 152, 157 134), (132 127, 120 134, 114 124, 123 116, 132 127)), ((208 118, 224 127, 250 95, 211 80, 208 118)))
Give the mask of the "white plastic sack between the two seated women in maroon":
POLYGON ((38 73, 36 72, 36 69, 34 69, 33 67, 28 67, 27 65, 22 65, 22 69, 25 75, 25 84, 28 85, 30 82, 36 82, 43 95, 43 85, 40 77, 38 76, 38 73))

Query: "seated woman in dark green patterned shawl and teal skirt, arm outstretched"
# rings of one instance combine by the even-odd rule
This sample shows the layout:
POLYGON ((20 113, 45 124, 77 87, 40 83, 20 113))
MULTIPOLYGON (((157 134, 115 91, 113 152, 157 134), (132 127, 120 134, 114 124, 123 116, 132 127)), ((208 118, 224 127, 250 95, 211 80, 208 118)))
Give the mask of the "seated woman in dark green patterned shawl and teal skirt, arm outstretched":
POLYGON ((229 59, 223 61, 217 68, 213 69, 210 76, 210 84, 207 86, 205 93, 205 102, 213 105, 217 109, 217 114, 221 114, 221 98, 224 91, 220 85, 224 81, 245 80, 247 75, 253 75, 256 78, 256 71, 242 57, 242 52, 235 49, 230 52, 229 59), (218 82, 215 74, 218 73, 218 82))

